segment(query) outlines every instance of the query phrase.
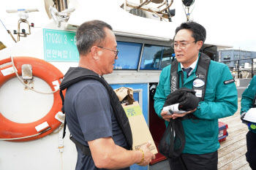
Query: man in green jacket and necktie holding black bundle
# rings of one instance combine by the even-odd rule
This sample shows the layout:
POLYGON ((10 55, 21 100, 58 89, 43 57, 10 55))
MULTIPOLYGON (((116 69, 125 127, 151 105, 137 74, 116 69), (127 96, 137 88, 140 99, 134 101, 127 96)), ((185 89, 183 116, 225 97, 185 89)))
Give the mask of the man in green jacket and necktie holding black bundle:
POLYGON ((178 62, 162 69, 154 95, 154 109, 165 124, 180 118, 184 127, 186 144, 178 158, 168 158, 171 170, 217 169, 218 119, 231 116, 238 109, 236 85, 228 67, 199 52, 205 40, 206 29, 198 23, 189 21, 176 28, 172 46, 178 62), (167 96, 182 87, 196 91, 198 107, 167 115, 162 111, 167 96))

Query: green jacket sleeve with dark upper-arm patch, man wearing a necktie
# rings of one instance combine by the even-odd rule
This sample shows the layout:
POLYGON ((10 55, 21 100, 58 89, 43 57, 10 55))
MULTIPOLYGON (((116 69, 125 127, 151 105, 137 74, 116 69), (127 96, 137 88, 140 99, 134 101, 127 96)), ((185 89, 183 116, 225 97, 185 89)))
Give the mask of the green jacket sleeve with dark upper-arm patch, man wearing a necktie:
POLYGON ((197 110, 193 112, 193 114, 200 119, 216 120, 234 115, 238 109, 238 96, 235 82, 226 85, 224 83, 227 80, 233 79, 230 70, 225 66, 219 74, 221 77, 215 88, 215 100, 201 101, 197 110))

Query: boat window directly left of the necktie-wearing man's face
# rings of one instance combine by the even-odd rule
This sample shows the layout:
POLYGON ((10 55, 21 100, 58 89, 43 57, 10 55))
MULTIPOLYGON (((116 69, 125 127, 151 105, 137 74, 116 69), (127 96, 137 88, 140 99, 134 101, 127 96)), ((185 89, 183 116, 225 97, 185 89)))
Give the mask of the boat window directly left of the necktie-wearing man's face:
POLYGON ((171 47, 157 45, 144 45, 141 58, 141 70, 159 70, 169 66, 175 58, 174 50, 171 47))

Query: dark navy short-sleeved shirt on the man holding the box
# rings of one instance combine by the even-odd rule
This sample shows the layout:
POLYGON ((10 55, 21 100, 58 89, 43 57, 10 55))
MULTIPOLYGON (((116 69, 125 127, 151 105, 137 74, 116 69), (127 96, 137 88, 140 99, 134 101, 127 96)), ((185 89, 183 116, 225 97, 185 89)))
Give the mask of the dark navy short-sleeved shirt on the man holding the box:
MULTIPOLYGON (((67 88, 64 107, 70 134, 81 144, 111 136, 115 144, 127 147, 110 105, 108 92, 97 80, 82 80, 67 88)), ((76 170, 98 169, 91 156, 78 150, 76 170)), ((124 169, 129 170, 129 167, 124 169)))

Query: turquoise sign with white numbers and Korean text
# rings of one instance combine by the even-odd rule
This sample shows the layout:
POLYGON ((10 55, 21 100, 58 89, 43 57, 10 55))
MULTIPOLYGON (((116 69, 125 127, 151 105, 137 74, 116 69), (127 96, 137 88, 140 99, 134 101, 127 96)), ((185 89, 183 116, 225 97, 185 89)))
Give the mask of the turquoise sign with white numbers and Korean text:
POLYGON ((75 32, 43 29, 45 61, 78 62, 75 32))

